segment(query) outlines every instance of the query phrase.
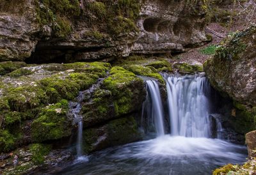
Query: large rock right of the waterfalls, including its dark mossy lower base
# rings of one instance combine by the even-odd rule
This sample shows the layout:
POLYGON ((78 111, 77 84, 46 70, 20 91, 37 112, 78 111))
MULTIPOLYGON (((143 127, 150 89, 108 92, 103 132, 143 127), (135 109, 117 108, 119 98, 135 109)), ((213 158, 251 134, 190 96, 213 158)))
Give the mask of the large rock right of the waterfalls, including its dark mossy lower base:
POLYGON ((256 26, 228 36, 216 54, 204 64, 211 85, 233 100, 230 112, 235 130, 255 130, 256 116, 256 26))

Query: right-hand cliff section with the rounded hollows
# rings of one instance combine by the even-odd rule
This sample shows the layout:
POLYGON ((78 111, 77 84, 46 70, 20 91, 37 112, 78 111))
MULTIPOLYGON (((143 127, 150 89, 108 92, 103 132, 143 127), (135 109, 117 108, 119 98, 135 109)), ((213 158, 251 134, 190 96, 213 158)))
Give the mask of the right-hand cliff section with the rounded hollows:
POLYGON ((186 1, 145 1, 137 23, 140 33, 132 52, 181 52, 188 45, 205 41, 204 13, 200 4, 195 8, 186 6, 186 1))

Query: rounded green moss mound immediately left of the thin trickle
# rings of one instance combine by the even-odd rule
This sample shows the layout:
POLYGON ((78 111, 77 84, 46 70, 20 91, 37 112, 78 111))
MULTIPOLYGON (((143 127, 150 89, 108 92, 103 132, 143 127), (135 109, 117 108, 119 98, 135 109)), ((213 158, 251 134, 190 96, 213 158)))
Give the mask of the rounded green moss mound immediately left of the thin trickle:
POLYGON ((70 135, 71 127, 68 126, 67 111, 67 100, 44 107, 38 118, 31 123, 33 141, 55 140, 70 135))

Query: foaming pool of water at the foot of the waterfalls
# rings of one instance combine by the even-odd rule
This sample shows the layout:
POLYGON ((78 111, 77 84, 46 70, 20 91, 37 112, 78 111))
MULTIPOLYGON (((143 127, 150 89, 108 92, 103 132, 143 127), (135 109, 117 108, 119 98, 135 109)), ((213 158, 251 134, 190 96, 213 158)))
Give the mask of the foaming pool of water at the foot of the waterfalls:
POLYGON ((221 165, 241 164, 245 153, 244 146, 220 139, 163 135, 93 153, 89 162, 58 174, 205 175, 221 165))

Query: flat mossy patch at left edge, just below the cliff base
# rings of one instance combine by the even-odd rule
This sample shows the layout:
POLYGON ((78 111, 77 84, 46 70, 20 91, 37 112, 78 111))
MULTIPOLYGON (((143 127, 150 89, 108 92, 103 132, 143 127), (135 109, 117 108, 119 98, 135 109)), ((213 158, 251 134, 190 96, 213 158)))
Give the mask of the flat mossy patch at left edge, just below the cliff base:
POLYGON ((6 73, 13 72, 19 68, 26 66, 24 62, 13 62, 13 61, 4 61, 0 62, 0 75, 5 75, 6 73))

